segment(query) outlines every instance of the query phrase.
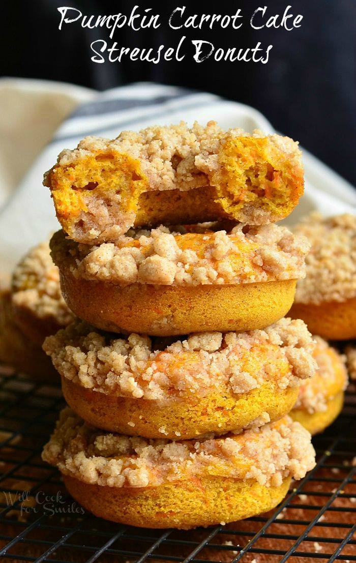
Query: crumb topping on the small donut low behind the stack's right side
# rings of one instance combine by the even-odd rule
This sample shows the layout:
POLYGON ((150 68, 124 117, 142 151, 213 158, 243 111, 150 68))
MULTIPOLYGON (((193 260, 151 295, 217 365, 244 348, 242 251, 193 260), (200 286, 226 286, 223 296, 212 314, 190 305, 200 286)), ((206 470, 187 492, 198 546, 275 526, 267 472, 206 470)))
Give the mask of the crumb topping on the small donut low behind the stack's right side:
POLYGON ((344 391, 348 385, 345 356, 340 355, 320 336, 314 336, 316 346, 313 358, 317 371, 310 379, 301 382, 295 409, 306 409, 309 414, 327 410, 327 402, 344 391))

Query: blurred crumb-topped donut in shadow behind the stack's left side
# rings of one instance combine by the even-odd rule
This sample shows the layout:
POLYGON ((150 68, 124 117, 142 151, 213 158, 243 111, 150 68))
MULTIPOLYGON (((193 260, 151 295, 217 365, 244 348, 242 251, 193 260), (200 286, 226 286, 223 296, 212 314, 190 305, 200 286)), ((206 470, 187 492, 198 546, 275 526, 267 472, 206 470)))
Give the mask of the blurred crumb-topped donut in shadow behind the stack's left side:
POLYGON ((1 294, 0 361, 33 378, 56 377, 42 344, 73 318, 48 242, 40 243, 16 266, 10 290, 1 294))

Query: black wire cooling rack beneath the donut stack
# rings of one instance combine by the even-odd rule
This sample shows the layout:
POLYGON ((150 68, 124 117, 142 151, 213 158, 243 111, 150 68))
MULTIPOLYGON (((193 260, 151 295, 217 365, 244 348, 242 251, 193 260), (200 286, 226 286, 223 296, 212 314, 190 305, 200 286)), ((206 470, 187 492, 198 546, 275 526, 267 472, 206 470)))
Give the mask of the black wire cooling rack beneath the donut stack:
POLYGON ((292 484, 275 511, 193 531, 147 530, 95 518, 65 492, 41 460, 57 413, 59 387, 0 376, 0 556, 54 563, 185 561, 301 563, 356 561, 356 393, 315 437, 317 466, 292 484))

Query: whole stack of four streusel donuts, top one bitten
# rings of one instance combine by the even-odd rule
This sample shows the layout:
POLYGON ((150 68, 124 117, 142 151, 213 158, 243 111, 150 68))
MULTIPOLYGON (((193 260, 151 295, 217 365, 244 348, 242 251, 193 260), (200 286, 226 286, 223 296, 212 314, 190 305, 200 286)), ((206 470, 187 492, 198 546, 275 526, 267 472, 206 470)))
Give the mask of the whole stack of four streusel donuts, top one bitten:
POLYGON ((43 459, 84 507, 125 524, 274 508, 314 466, 288 413, 329 353, 284 317, 309 249, 275 224, 303 191, 297 144, 215 122, 87 137, 45 185, 77 319, 43 345, 69 405, 43 459))

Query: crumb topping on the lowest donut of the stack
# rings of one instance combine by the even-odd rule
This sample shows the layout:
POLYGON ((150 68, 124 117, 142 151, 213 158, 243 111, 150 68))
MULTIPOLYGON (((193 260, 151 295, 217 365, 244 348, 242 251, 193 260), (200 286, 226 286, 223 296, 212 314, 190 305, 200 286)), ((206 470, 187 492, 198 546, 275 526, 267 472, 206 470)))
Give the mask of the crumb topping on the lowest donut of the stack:
POLYGON ((61 412, 42 458, 65 475, 112 487, 209 475, 279 486, 288 476, 301 479, 315 464, 309 432, 290 417, 238 436, 171 442, 99 431, 69 408, 61 412))

